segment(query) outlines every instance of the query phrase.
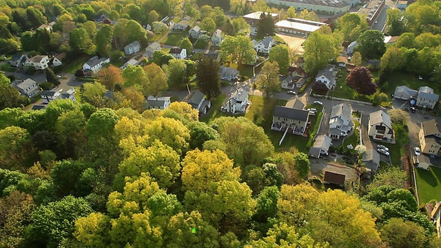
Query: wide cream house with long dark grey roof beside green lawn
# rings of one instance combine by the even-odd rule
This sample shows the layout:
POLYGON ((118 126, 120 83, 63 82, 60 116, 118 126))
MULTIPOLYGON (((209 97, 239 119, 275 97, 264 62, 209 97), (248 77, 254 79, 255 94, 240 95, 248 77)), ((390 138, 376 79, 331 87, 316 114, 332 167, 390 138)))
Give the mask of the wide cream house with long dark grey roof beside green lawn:
POLYGON ((299 110, 294 107, 276 106, 274 108, 271 130, 289 132, 291 134, 305 135, 309 111, 299 110))

